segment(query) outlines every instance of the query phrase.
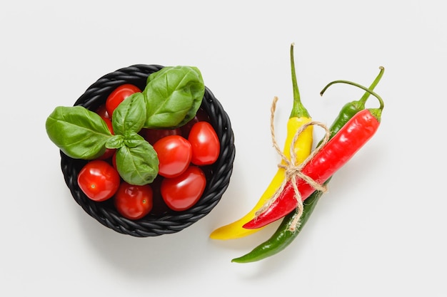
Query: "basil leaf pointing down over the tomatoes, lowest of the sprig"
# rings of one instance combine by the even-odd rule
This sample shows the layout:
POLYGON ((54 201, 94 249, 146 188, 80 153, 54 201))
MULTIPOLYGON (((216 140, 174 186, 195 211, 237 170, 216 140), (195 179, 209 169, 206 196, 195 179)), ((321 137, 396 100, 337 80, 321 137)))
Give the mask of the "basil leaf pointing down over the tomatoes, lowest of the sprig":
POLYGON ((159 158, 149 142, 140 140, 134 147, 116 150, 116 169, 129 184, 150 184, 159 173, 159 158))

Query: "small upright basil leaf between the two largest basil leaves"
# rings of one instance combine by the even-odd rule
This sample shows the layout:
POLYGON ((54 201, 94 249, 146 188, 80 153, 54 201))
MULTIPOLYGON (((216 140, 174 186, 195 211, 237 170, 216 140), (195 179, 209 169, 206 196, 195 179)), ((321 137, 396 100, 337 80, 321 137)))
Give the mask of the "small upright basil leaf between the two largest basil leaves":
POLYGON ((126 131, 139 132, 146 121, 146 103, 142 93, 134 93, 124 99, 114 110, 112 127, 116 135, 126 131))

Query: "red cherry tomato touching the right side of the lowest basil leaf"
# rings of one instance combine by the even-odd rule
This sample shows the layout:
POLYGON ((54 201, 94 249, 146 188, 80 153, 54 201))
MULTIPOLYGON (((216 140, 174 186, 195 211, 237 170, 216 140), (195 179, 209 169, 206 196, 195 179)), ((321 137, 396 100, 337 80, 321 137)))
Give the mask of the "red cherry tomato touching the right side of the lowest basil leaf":
POLYGON ((177 177, 191 163, 191 144, 180 135, 161 138, 155 142, 154 150, 159 157, 159 174, 162 177, 177 177))

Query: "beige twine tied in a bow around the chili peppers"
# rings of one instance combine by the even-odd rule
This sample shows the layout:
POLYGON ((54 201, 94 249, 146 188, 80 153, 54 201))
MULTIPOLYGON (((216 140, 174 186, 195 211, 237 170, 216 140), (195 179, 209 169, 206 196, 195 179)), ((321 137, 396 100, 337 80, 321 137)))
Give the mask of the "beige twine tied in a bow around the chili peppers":
POLYGON ((285 173, 286 177, 283 180, 283 182, 281 183, 281 186, 278 189, 276 189, 276 192, 273 194, 273 196, 270 199, 268 199, 268 201, 265 204, 263 204, 263 206, 261 207, 261 209, 258 210, 258 212, 256 212, 256 218, 260 214, 265 212, 266 209, 268 209, 268 207, 270 207, 271 204, 273 204, 273 202, 275 202, 276 199, 278 199, 281 192, 283 192, 284 187, 286 187, 287 182, 290 180, 292 187, 293 187, 294 194, 295 194, 294 196, 295 196, 296 202, 298 202, 297 207, 296 207, 296 215, 293 218, 293 222, 291 222, 291 224, 289 226, 289 230, 293 232, 296 230, 296 228, 298 228, 298 226, 300 226, 301 216, 303 214, 303 200, 301 199, 301 193, 298 190, 297 178, 303 179, 305 182, 307 182, 309 185, 311 185, 311 187, 313 187, 313 189, 316 189, 323 193, 327 191, 327 187, 325 185, 319 184, 311 177, 308 177, 306 174, 303 174, 302 170, 303 170, 303 167, 305 167, 306 164, 308 162, 310 162, 313 159, 313 157, 321 150, 321 148, 324 145, 326 145, 326 142, 328 142, 331 132, 328 130, 328 127, 326 127, 326 125, 324 125, 323 123, 320 123, 320 122, 316 122, 316 121, 311 121, 309 123, 302 125, 296 131, 295 135, 293 135, 293 139, 291 141, 291 146, 290 146, 290 160, 288 160, 286 155, 281 151, 281 148, 279 147, 278 142, 276 142, 274 117, 275 117, 277 101, 278 101, 278 97, 275 96, 273 98, 273 103, 271 105, 270 131, 271 131, 271 138, 273 141, 273 147, 275 148, 276 152, 278 152, 278 155, 281 156, 282 162, 280 162, 278 164, 278 167, 285 170, 284 173, 285 173), (315 150, 313 150, 311 152, 311 154, 308 155, 306 160, 304 160, 301 164, 296 164, 296 152, 295 152, 296 141, 298 140, 298 137, 303 133, 303 131, 306 130, 306 128, 311 125, 318 125, 318 126, 322 127, 326 131, 326 134, 325 134, 323 140, 321 140, 320 144, 315 148, 315 150))

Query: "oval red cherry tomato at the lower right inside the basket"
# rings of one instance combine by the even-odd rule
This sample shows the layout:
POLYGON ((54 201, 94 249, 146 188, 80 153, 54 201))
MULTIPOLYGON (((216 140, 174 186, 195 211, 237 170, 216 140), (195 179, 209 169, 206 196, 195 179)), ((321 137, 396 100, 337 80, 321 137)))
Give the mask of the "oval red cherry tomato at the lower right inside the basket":
POLYGON ((161 197, 170 209, 180 212, 199 201, 204 194, 205 186, 204 172, 199 167, 191 165, 178 177, 163 179, 161 197))

